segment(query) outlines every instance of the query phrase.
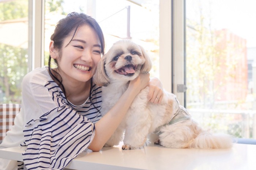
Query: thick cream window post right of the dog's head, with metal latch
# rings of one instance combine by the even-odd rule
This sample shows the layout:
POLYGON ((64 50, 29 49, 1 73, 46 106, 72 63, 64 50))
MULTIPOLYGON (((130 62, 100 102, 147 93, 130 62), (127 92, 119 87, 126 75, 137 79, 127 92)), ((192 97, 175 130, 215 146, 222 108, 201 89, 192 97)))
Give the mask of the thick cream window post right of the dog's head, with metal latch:
POLYGON ((185 84, 185 0, 160 0, 159 11, 160 80, 185 106, 185 92, 177 89, 185 84))

